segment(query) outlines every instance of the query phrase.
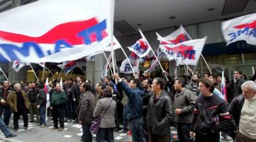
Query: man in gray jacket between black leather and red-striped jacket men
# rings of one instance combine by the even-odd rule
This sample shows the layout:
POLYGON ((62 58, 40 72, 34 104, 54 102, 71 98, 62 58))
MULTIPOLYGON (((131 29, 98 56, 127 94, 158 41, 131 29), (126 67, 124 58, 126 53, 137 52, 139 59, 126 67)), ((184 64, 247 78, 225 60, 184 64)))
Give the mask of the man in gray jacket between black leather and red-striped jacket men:
POLYGON ((184 80, 176 79, 174 89, 174 114, 177 116, 177 135, 179 141, 190 141, 189 132, 192 129, 193 111, 195 108, 196 94, 184 88, 184 80))

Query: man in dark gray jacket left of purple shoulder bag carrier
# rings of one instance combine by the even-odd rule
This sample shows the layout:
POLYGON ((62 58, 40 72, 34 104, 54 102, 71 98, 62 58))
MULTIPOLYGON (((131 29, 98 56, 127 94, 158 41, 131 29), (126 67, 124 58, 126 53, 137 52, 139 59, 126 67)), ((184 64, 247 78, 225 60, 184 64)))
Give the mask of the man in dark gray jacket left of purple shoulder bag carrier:
POLYGON ((84 83, 79 86, 81 93, 81 101, 77 109, 78 122, 82 125, 83 141, 92 141, 92 133, 90 132, 91 121, 93 120, 93 111, 95 109, 95 96, 90 91, 90 85, 84 83))

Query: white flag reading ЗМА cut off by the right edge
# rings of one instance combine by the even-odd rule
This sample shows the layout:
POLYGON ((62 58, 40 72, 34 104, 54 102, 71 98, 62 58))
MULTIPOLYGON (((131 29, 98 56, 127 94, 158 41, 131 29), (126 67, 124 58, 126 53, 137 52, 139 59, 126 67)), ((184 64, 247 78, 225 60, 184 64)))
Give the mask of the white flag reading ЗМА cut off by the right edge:
POLYGON ((256 14, 222 22, 221 28, 227 45, 240 40, 256 45, 256 14))

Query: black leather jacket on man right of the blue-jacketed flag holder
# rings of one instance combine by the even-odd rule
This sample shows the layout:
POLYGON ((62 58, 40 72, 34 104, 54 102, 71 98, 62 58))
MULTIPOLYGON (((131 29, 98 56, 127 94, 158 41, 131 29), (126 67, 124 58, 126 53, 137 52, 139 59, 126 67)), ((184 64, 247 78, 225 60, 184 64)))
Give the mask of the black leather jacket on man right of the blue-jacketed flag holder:
POLYGON ((173 103, 166 91, 163 91, 160 98, 151 96, 148 104, 147 124, 151 133, 156 135, 168 135, 170 125, 174 120, 173 103))

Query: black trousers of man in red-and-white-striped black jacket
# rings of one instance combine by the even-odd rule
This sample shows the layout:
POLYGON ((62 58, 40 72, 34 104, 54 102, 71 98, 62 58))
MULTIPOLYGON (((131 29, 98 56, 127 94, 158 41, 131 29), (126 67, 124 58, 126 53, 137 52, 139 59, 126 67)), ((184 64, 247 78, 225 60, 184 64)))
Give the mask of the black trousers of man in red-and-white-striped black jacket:
POLYGON ((219 142, 220 133, 208 133, 206 135, 195 134, 195 142, 219 142))

